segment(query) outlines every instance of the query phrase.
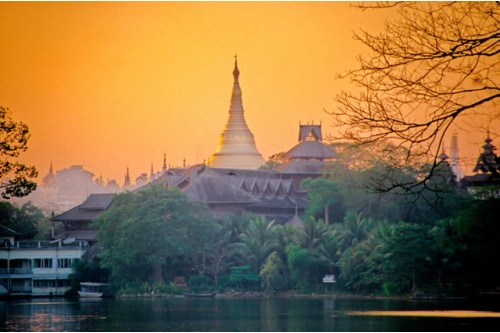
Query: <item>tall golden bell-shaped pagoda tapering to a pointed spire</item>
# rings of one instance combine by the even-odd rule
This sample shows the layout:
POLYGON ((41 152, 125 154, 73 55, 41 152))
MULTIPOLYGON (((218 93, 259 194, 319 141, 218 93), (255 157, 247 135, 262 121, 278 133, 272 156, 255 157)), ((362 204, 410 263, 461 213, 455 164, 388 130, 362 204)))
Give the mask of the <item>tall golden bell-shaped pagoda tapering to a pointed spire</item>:
POLYGON ((253 134, 245 121, 239 76, 235 57, 229 118, 219 136, 215 153, 208 159, 208 165, 213 168, 255 170, 264 164, 264 158, 257 150, 253 134))

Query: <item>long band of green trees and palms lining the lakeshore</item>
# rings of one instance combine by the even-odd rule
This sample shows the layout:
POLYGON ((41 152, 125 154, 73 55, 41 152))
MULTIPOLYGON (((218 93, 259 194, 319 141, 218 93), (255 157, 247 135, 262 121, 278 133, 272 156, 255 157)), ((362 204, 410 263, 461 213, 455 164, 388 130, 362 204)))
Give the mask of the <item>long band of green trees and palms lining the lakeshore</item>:
MULTIPOLYGON (((214 220, 176 189, 120 194, 94 223, 95 278, 120 292, 176 292, 176 276, 196 291, 268 294, 323 291, 327 274, 337 290, 362 294, 475 295, 497 287, 500 200, 469 197, 445 162, 413 191, 367 190, 386 167, 337 162, 328 176, 304 181, 303 227, 245 214, 214 220)), ((79 265, 81 276, 89 264, 79 265)))

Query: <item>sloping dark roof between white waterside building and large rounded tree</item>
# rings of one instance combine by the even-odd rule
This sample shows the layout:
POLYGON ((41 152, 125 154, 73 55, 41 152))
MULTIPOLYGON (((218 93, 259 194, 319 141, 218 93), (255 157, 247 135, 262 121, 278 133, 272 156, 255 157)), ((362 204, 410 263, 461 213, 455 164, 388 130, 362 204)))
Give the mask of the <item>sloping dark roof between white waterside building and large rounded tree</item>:
POLYGON ((57 215, 54 221, 93 221, 111 205, 114 196, 114 193, 91 194, 80 205, 57 215))

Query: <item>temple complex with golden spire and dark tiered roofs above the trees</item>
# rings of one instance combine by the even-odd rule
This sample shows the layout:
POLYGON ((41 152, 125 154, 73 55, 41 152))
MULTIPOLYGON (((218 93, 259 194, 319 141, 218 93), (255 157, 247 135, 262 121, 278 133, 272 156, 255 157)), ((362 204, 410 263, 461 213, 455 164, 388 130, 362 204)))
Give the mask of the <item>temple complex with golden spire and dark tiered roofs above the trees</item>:
MULTIPOLYGON (((278 224, 301 227, 299 216, 307 206, 307 191, 301 188, 301 182, 321 177, 325 162, 333 160, 336 152, 323 143, 321 124, 299 123, 298 143, 280 154, 277 167, 260 168, 265 161, 245 121, 239 74, 235 59, 229 118, 208 163, 167 168, 164 156, 161 172, 154 174, 151 167, 149 182, 130 190, 141 191, 152 185, 178 188, 191 200, 205 203, 217 219, 251 213, 278 224)), ((89 235, 91 222, 112 205, 113 196, 93 194, 81 205, 56 216, 54 221, 64 226, 56 237, 86 241, 95 248, 95 235, 89 235)))

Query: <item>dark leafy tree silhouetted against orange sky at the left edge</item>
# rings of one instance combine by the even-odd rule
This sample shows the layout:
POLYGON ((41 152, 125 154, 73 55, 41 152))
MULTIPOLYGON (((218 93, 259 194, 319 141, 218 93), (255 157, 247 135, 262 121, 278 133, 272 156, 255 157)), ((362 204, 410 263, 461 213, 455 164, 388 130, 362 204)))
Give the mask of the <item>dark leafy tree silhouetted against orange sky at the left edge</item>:
POLYGON ((28 126, 12 119, 10 110, 0 106, 0 195, 4 199, 23 197, 36 189, 34 166, 17 161, 28 149, 28 126))

